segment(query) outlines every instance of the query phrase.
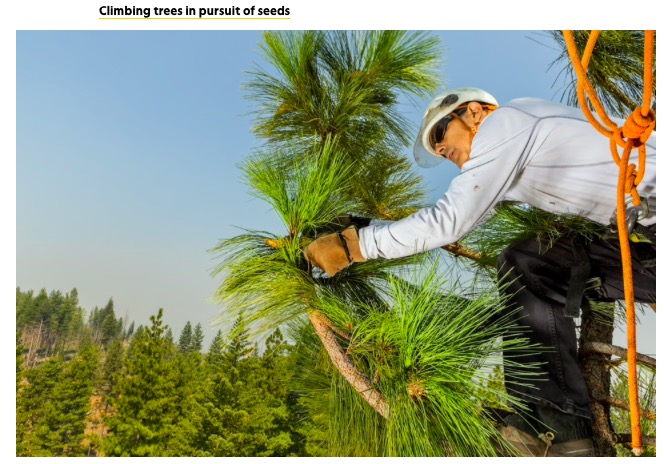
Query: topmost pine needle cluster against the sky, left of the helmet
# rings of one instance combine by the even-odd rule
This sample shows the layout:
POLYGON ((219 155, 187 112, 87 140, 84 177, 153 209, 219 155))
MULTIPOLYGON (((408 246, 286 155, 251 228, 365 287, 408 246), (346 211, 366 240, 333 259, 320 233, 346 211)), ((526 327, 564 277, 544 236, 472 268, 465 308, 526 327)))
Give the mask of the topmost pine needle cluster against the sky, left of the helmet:
POLYGON ((396 111, 399 92, 436 89, 437 39, 406 31, 266 32, 263 56, 247 84, 258 102, 256 134, 310 146, 330 137, 346 152, 382 136, 405 144, 408 124, 396 111))

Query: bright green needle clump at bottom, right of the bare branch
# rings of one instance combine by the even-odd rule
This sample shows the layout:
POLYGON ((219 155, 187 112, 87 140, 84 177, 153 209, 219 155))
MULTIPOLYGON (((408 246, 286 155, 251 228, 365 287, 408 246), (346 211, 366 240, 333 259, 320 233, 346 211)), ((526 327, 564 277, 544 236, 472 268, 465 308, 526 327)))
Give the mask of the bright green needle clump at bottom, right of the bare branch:
POLYGON ((437 273, 437 262, 424 269, 410 276, 415 285, 390 279, 390 310, 369 308, 368 316, 353 324, 347 349, 390 404, 381 453, 494 455, 497 436, 482 402, 498 397, 506 403, 508 397, 480 380, 492 363, 501 362, 497 353, 511 363, 513 354, 528 347, 524 339, 500 341, 515 327, 507 323, 495 291, 468 299, 437 273), (449 290, 441 293, 442 288, 449 290))

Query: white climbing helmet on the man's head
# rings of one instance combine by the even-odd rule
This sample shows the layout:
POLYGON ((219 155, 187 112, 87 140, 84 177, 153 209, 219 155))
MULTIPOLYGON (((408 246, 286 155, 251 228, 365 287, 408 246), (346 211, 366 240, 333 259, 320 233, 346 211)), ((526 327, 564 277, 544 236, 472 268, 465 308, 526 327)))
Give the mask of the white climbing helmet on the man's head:
POLYGON ((498 106, 498 101, 489 92, 474 87, 448 90, 433 99, 422 118, 420 132, 415 140, 413 155, 418 165, 430 168, 441 163, 445 158, 436 154, 435 147, 431 145, 431 130, 438 121, 450 114, 464 103, 477 101, 498 106))

